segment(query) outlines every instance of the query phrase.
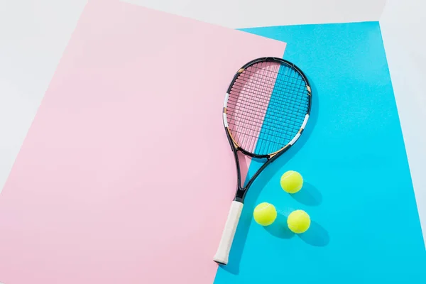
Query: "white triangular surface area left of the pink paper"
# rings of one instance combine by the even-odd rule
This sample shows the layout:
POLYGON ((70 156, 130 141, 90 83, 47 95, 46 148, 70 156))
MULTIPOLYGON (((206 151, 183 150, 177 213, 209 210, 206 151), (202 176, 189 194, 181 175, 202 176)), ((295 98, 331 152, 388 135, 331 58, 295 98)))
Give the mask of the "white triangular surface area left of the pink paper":
POLYGON ((0 190, 87 0, 0 0, 0 190))

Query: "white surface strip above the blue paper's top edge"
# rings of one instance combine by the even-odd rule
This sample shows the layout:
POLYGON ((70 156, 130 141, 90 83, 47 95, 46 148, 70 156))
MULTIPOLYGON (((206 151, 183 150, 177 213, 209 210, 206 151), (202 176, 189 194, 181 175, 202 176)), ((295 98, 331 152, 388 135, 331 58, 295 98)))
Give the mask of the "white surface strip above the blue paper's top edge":
POLYGON ((229 28, 378 21, 386 0, 123 0, 229 28))

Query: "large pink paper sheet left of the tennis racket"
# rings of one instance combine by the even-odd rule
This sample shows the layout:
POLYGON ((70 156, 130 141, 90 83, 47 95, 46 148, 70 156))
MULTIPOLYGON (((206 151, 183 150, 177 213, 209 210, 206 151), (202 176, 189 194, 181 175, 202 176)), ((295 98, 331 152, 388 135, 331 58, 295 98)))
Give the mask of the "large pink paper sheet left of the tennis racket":
POLYGON ((224 94, 284 48, 89 1, 0 195, 0 282, 212 283, 236 188, 224 94))

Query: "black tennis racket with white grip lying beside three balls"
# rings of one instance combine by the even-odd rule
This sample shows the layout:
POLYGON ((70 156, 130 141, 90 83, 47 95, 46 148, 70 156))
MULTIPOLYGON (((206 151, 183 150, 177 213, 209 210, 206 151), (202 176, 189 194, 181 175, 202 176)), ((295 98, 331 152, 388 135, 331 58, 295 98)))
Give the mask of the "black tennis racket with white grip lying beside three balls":
POLYGON ((311 88, 302 70, 280 58, 258 58, 234 75, 226 92, 223 119, 238 176, 237 190, 214 261, 226 265, 244 197, 253 181, 276 158, 294 145, 305 129, 311 107, 311 88), (241 185, 238 152, 266 159, 241 185))

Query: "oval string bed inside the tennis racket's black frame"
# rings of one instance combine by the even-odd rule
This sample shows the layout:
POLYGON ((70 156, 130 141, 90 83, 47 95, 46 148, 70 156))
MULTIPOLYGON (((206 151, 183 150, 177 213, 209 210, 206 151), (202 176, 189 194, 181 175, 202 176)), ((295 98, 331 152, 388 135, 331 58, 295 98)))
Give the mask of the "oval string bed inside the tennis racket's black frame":
POLYGON ((244 70, 229 92, 231 136, 258 155, 283 148, 300 130, 310 98, 303 77, 293 68, 262 62, 244 70))

